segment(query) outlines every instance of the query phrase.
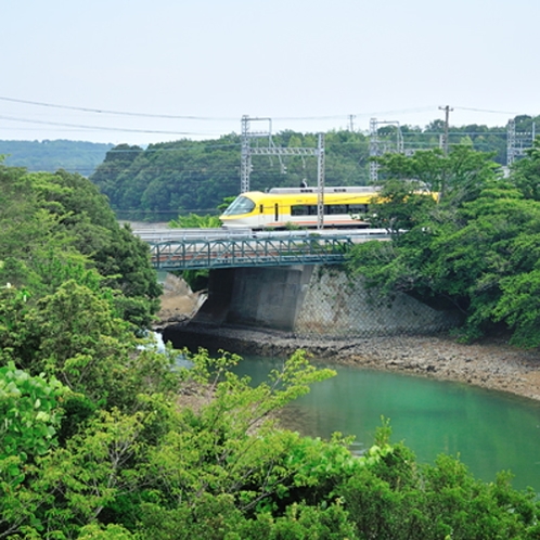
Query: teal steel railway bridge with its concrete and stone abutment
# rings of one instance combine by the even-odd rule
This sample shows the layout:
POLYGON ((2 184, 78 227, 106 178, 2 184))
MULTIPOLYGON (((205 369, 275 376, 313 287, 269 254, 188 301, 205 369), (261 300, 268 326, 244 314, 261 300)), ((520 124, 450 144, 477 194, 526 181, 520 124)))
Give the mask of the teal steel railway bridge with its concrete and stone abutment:
MULTIPOLYGON (((156 269, 209 272, 207 299, 191 325, 241 325, 295 335, 360 337, 426 333, 455 322, 450 313, 397 294, 367 291, 339 265, 359 242, 386 230, 136 230, 156 269)), ((170 337, 170 339, 173 339, 170 337)))

